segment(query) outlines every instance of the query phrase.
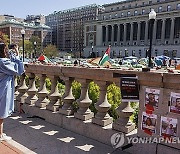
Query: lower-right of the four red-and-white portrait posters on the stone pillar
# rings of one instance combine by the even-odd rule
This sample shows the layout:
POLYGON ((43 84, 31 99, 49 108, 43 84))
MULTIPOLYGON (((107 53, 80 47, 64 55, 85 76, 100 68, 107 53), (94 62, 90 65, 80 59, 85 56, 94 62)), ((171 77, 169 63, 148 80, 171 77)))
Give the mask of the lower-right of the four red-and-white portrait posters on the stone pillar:
POLYGON ((177 119, 170 117, 161 117, 160 126, 161 136, 176 137, 177 136, 177 119))

